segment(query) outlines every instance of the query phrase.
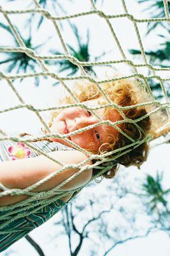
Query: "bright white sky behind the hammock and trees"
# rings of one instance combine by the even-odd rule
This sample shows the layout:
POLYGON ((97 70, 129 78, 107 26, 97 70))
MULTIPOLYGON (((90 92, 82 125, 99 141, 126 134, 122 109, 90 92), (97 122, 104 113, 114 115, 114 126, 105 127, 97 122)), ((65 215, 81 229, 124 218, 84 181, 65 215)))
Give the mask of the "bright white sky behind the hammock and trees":
MULTIPOLYGON (((134 17, 145 18, 148 17, 146 12, 141 12, 141 5, 137 4, 136 0, 128 0, 127 9, 130 13, 134 15, 134 17)), ((7 0, 1 0, 1 6, 7 10, 18 10, 22 8, 27 8, 29 3, 32 1, 22 1, 15 0, 13 2, 8 2, 7 0)), ((61 4, 62 1, 60 0, 61 4)), ((120 0, 110 1, 104 0, 103 5, 102 1, 98 1, 98 8, 101 9, 108 14, 118 14, 124 13, 122 4, 120 0)), ((32 6, 34 6, 32 4, 32 6)), ((30 6, 30 8, 32 7, 30 6)), ((90 10, 90 1, 65 1, 62 3, 62 8, 67 11, 67 13, 76 13, 76 12, 85 12, 90 10), (73 4, 74 3, 74 4, 73 4)), ((53 8, 49 8, 50 12, 53 12, 53 8)), ((60 10, 58 10, 59 15, 62 15, 60 10)), ((20 33, 22 36, 28 35, 28 29, 24 28, 24 19, 27 15, 10 15, 11 22, 17 25, 20 29, 20 33)), ((38 15, 36 17, 39 17, 38 15)), ((0 15, 1 22, 4 22, 4 18, 0 15)), ((91 60, 93 60, 94 56, 99 56, 103 52, 108 52, 106 56, 102 58, 102 60, 118 60, 122 57, 118 52, 117 45, 115 44, 113 38, 111 37, 111 33, 106 25, 105 20, 97 17, 97 15, 87 16, 87 17, 79 17, 71 20, 80 31, 82 36, 82 40, 86 42, 87 28, 90 29, 90 53, 91 60)), ((131 21, 128 19, 117 19, 111 20, 115 28, 115 33, 117 33, 118 39, 127 54, 128 58, 132 59, 132 56, 128 53, 128 49, 138 49, 138 39, 136 33, 134 31, 134 26, 131 21)), ((62 22, 62 35, 64 36, 64 40, 66 40, 67 44, 76 46, 76 40, 73 36, 73 32, 69 28, 69 25, 66 21, 62 22)), ((143 39, 143 45, 145 49, 153 49, 160 44, 162 38, 158 38, 155 34, 152 34, 148 37, 145 37, 146 33, 146 24, 138 24, 141 37, 143 39)), ((159 31, 160 32, 160 31, 159 31)), ((11 36, 8 33, 5 33, 3 29, 0 29, 1 33, 1 45, 3 46, 13 46, 13 41, 11 40, 11 36)), ((48 49, 55 49, 57 51, 63 52, 62 47, 60 45, 59 39, 56 36, 55 29, 49 20, 43 22, 41 29, 36 31, 35 26, 32 26, 32 42, 34 45, 41 44, 46 42, 45 47, 41 48, 39 53, 41 54, 49 54, 48 49), (49 38, 49 39, 48 39, 49 38)), ((135 60, 137 62, 141 62, 135 60)), ((125 65, 117 65, 118 70, 122 74, 131 74, 131 70, 125 65)), ((4 71, 3 69, 0 70, 4 71)), ((50 70, 53 72, 57 72, 57 67, 50 67, 50 70)), ((102 68, 96 68, 96 72, 98 76, 103 76, 105 70, 102 68)), ((143 68, 139 68, 139 72, 143 72, 146 74, 146 70, 143 68)), ((13 71, 15 73, 15 71, 13 71)), ((159 72, 158 72, 159 74, 159 72)), ((62 74, 63 76, 64 74, 62 74)), ((162 74, 163 76, 163 74, 162 74)), ((165 75, 166 76, 166 75, 165 75)), ((53 86, 53 79, 40 79, 40 84, 38 87, 34 85, 33 79, 24 79, 22 82, 20 80, 16 80, 13 84, 15 88, 17 88, 18 92, 25 100, 27 104, 33 104, 39 108, 55 106, 55 99, 60 96, 59 86, 53 86)), ((10 108, 11 106, 16 106, 19 104, 17 97, 11 92, 11 88, 8 86, 6 81, 0 80, 0 109, 10 108)), ((43 114, 43 118, 48 119, 48 113, 43 114)), ((3 113, 0 115, 0 129, 3 129, 8 134, 18 134, 19 132, 28 132, 31 134, 38 134, 41 131, 42 125, 36 118, 36 115, 27 109, 19 109, 15 111, 10 111, 7 113, 3 113)), ((142 173, 151 173, 155 175, 157 170, 164 171, 164 186, 165 188, 169 188, 169 170, 168 170, 168 157, 167 152, 169 150, 169 145, 162 145, 160 147, 156 147, 152 150, 150 157, 148 158, 147 163, 143 164, 141 168, 142 173)), ((136 174, 136 168, 129 168, 129 179, 135 179, 138 177, 136 174)), ((127 172, 127 171, 126 171, 127 172)), ((89 188, 90 189, 90 188, 89 188)), ((89 190, 88 189, 88 190, 89 190)), ((97 191, 97 188, 96 188, 97 191)), ((81 195, 80 195, 81 196, 81 195)), ((60 213, 59 213, 60 214, 60 213)), ((55 230, 53 228, 53 222, 57 221, 57 216, 53 217, 52 220, 45 223, 40 228, 37 228, 31 233, 31 236, 38 241, 38 243, 42 246, 46 256, 53 256, 58 252, 60 255, 66 255, 64 253, 64 249, 66 248, 67 241, 60 241, 60 250, 59 246, 57 247, 55 243, 50 243, 51 230, 53 235, 55 234, 55 230), (63 251, 61 251, 63 250, 63 251)), ((57 240, 59 241, 59 240, 57 240)), ((169 237, 163 232, 158 232, 157 234, 151 234, 146 239, 138 239, 136 241, 131 241, 122 246, 117 246, 115 250, 111 252, 110 255, 117 256, 143 256, 143 255, 152 255, 159 256, 169 256, 170 246, 169 246, 169 237), (128 253, 127 253, 128 252, 128 253)), ((31 255, 36 256, 37 253, 31 248, 29 243, 22 239, 18 241, 16 244, 11 246, 9 250, 6 252, 10 252, 13 250, 15 252, 11 252, 10 256, 22 256, 22 255, 31 255)), ((84 251, 85 252, 85 251, 84 251)), ((1 253, 2 256, 5 256, 5 253, 1 253)), ((84 254, 85 256, 87 254, 84 254)), ((83 256, 84 256, 83 255, 83 256)))

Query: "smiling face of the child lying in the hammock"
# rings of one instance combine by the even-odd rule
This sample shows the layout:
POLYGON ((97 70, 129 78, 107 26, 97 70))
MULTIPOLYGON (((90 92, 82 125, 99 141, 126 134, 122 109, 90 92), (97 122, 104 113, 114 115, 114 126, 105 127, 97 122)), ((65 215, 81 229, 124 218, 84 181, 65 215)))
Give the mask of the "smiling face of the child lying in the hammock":
MULTIPOLYGON (((95 107, 99 106, 99 100, 100 98, 97 98, 93 100, 87 100, 82 103, 86 104, 87 106, 95 107)), ((110 118, 106 116, 106 113, 104 113, 104 109, 97 109, 95 110, 95 113, 103 118, 103 120, 110 119, 111 122, 116 122, 120 120, 120 114, 116 109, 115 111, 113 109, 110 118)), ((83 109, 81 107, 73 107, 62 110, 59 115, 54 118, 50 130, 54 133, 58 132, 60 134, 67 134, 69 132, 76 131, 88 125, 97 124, 99 122, 99 118, 92 115, 86 109, 83 109)), ((118 131, 111 125, 102 124, 67 138, 81 148, 87 149, 90 152, 97 153, 101 145, 107 143, 108 146, 108 143, 110 144, 111 141, 113 143, 113 138, 118 138, 118 131)), ((52 138, 52 140, 72 147, 64 140, 58 138, 52 138)))

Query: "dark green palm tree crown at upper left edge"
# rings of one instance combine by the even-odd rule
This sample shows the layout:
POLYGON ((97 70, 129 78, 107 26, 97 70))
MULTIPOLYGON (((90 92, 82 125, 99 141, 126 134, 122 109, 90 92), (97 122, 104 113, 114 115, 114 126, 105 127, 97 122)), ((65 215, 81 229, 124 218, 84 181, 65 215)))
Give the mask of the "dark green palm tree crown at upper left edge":
MULTIPOLYGON (((16 46, 18 46, 18 42, 17 42, 15 36, 13 35, 10 27, 6 26, 2 23, 0 23, 0 27, 5 29, 6 31, 8 31, 8 33, 10 33, 10 35, 13 38, 14 44, 16 46)), ((21 38, 22 38, 22 36, 21 36, 21 38)), ((22 38, 22 40, 24 41, 25 46, 27 48, 32 49, 34 51, 37 51, 40 47, 42 47, 45 44, 45 43, 43 43, 43 44, 39 44, 36 46, 32 45, 31 29, 30 29, 28 38, 26 38, 26 39, 22 38)), ((25 73, 27 70, 36 72, 37 68, 39 67, 38 62, 36 60, 30 58, 29 56, 27 56, 27 54, 25 54, 25 52, 3 52, 3 54, 4 54, 4 59, 0 61, 0 65, 8 63, 8 65, 6 67, 6 71, 8 73, 10 73, 12 70, 15 70, 17 72, 17 74, 19 72, 25 73)), ((39 84, 38 77, 35 77, 35 82, 36 82, 36 86, 38 86, 38 84, 39 84)))

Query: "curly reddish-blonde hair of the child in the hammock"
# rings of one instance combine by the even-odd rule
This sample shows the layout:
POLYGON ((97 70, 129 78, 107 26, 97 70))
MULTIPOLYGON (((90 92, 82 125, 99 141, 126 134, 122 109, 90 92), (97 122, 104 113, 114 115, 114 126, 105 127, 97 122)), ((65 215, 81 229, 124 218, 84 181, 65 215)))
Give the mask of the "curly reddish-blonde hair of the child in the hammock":
MULTIPOLYGON (((148 93, 145 90, 145 86, 142 86, 139 81, 132 81, 130 79, 121 79, 117 81, 111 81, 109 83, 101 83, 100 84, 103 91, 108 95, 110 100, 117 104, 118 106, 132 106, 135 104, 139 104, 141 102, 148 102, 150 101, 150 97, 148 96, 148 93)), ((86 101, 86 100, 92 100, 96 99, 98 97, 103 96, 101 92, 99 92, 99 89, 97 88, 97 85, 95 83, 90 83, 86 80, 80 80, 77 81, 74 86, 74 95, 80 100, 80 102, 86 101)), ((107 104, 108 102, 102 98, 101 102, 99 104, 107 104)), ((60 99, 60 104, 72 104, 75 103, 75 100, 71 95, 66 95, 62 99, 60 99)), ((108 111, 108 115, 111 115, 111 111, 115 108, 109 107, 106 108, 105 111, 108 111)), ((132 120, 136 120, 138 118, 141 118, 142 116, 146 115, 151 110, 151 107, 134 107, 129 110, 124 110, 123 113, 127 118, 130 118, 132 120), (149 109, 150 108, 150 109, 149 109)), ((52 125, 53 118, 55 118, 59 114, 59 111, 53 111, 52 118, 50 120, 49 126, 52 125)), ((141 121, 138 122, 138 126, 142 129, 141 130, 136 127, 135 124, 124 122, 119 126, 119 128, 124 131, 126 134, 131 136, 134 140, 143 140, 146 137, 146 134, 153 134, 153 125, 151 122, 150 116, 146 116, 141 121)), ((108 150, 103 151, 102 146, 99 148, 98 152, 91 152, 92 154, 103 154, 106 151, 111 151, 113 149, 124 147, 125 145, 131 144, 131 141, 121 134, 119 132, 117 140, 113 138, 112 143, 108 145, 108 150)), ((112 179, 115 176, 115 173, 118 170, 118 165, 122 164, 124 166, 140 166, 144 161, 146 161, 148 156, 148 143, 144 142, 136 148, 132 148, 130 152, 125 153, 123 156, 117 157, 117 164, 115 166, 107 171, 106 173, 103 173, 99 176, 102 177, 102 179, 105 177, 106 179, 112 179)), ((110 156, 111 157, 111 156, 110 156)), ((94 163, 95 161, 93 161, 94 163)), ((99 172, 99 169, 93 170, 93 175, 96 175, 97 172, 99 172)), ((98 177, 99 177, 98 176, 98 177)))

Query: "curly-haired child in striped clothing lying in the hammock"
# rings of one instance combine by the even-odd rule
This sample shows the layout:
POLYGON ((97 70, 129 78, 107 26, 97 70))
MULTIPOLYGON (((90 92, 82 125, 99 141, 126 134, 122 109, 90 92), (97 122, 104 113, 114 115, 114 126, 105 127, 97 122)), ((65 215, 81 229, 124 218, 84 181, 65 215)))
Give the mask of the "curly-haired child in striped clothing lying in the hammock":
MULTIPOLYGON (((121 107, 150 100, 145 90, 139 88, 138 83, 128 79, 103 83, 101 88, 103 88, 111 102, 121 107)), ((89 108, 99 107, 108 103, 101 92, 99 92, 96 84, 85 81, 79 81, 76 84, 74 95, 89 108)), ((74 100, 71 96, 66 96, 60 100, 60 103, 74 103, 74 100)), ((138 126, 131 122, 120 122, 121 124, 115 127, 106 124, 96 125, 100 122, 99 118, 110 120, 113 123, 124 119, 121 112, 112 106, 109 108, 98 108, 92 112, 87 111, 86 108, 81 106, 54 111, 49 125, 50 131, 58 134, 68 134, 67 138, 69 140, 65 141, 52 137, 50 140, 34 141, 29 145, 43 150, 48 156, 58 159, 64 164, 78 164, 87 160, 86 164, 90 165, 95 163, 95 161, 88 161, 88 154, 80 152, 73 145, 78 145, 91 154, 100 155, 131 143, 131 140, 124 136, 120 129, 134 140, 143 140, 148 134, 153 133, 150 117, 141 118, 148 113, 146 107, 124 109, 122 112, 124 118, 129 118, 129 120, 141 118, 138 126), (96 126, 69 136, 70 132, 87 127, 88 125, 96 126), (69 141, 71 141, 71 144, 69 141)), ((31 137, 27 136, 24 138, 31 137)), ((101 177, 106 179, 113 178, 117 172, 118 164, 140 166, 146 161, 147 156, 148 144, 144 142, 139 147, 131 148, 130 152, 117 156, 115 166, 103 173, 101 177)), ((59 169, 59 164, 39 154, 36 150, 26 147, 24 143, 17 143, 16 145, 13 141, 1 141, 0 183, 6 188, 27 188, 59 169), (11 159, 15 159, 15 161, 11 161, 11 159)), ((78 168, 68 168, 57 173, 52 179, 40 184, 32 192, 49 191, 76 172, 78 172, 78 168)), ((97 172, 99 172, 97 168, 89 168, 85 172, 81 172, 80 175, 60 188, 60 191, 70 191, 69 195, 62 196, 62 198, 57 200, 55 196, 52 196, 52 201, 48 205, 45 205, 45 198, 40 201, 31 201, 28 195, 0 197, 0 252, 3 252, 15 241, 18 241, 18 239, 24 237, 31 230, 51 218, 73 198, 73 189, 87 184, 94 175, 97 175, 97 172), (23 201, 25 204, 18 206, 17 203, 22 202, 22 200, 25 200, 23 201), (5 205, 13 206, 13 204, 16 205, 15 211, 10 210, 13 209, 12 207, 9 209, 5 208, 5 205)))

